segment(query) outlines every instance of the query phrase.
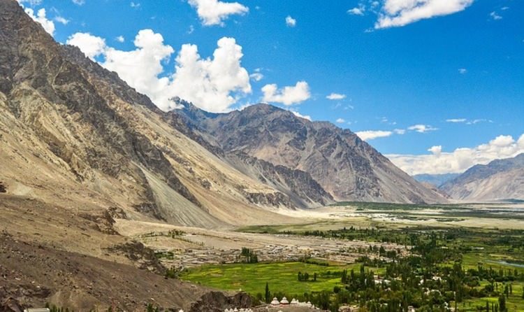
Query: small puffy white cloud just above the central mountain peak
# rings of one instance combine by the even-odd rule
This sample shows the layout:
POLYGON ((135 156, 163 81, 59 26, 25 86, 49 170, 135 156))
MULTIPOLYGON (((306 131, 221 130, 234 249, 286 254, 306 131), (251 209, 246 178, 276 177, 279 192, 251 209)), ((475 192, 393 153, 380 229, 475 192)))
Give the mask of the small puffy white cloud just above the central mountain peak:
POLYGON ((311 97, 310 86, 305 81, 299 81, 294 87, 287 86, 278 89, 276 84, 262 87, 263 101, 282 103, 286 106, 300 104, 311 97))

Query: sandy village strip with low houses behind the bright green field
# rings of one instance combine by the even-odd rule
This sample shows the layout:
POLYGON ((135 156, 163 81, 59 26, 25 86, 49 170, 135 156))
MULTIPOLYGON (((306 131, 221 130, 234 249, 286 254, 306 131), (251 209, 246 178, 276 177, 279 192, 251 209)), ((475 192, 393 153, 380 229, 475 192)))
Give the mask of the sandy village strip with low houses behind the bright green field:
POLYGON ((353 263, 363 255, 370 259, 388 261, 386 257, 368 252, 370 248, 380 247, 395 250, 400 255, 409 253, 409 248, 393 243, 344 241, 291 234, 239 235, 236 232, 203 232, 202 229, 194 232, 181 232, 177 229, 153 231, 138 234, 133 239, 152 248, 164 266, 177 270, 204 264, 242 262, 242 248, 252 249, 258 258, 257 262, 291 262, 314 258, 344 264, 353 263))

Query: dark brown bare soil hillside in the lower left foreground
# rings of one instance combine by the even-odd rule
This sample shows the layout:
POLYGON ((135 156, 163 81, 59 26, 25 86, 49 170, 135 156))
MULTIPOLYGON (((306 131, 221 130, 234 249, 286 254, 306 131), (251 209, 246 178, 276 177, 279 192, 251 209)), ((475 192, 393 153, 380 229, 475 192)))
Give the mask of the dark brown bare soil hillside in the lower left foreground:
POLYGON ((13 298, 24 308, 49 302, 70 311, 144 311, 151 303, 189 311, 209 291, 154 273, 161 268, 150 250, 102 232, 99 218, 79 216, 85 211, 7 194, 0 211, 0 304, 13 298))

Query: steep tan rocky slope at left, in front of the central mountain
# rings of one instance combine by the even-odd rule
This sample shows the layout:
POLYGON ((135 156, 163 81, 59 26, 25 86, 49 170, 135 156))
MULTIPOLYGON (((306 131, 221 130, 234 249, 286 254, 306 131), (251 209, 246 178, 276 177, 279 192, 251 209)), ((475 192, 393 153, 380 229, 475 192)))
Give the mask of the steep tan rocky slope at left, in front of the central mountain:
POLYGON ((16 1, 0 6, 0 157, 8 159, 0 178, 8 194, 199 227, 263 222, 268 210, 332 200, 312 179, 284 187, 283 171, 271 183, 238 171, 116 73, 54 42, 16 1))

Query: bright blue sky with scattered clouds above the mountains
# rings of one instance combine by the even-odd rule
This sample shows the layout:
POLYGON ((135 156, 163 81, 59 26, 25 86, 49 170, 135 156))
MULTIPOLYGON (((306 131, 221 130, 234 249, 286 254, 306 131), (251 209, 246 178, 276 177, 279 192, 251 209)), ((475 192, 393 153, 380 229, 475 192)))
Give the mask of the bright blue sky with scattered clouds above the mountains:
MULTIPOLYGON (((224 106, 201 107, 223 111, 270 101, 312 120, 328 120, 358 132, 409 173, 463 171, 524 150, 523 1, 449 0, 449 7, 442 8, 442 1, 435 4, 439 0, 425 0, 418 7, 410 7, 410 0, 238 0, 237 6, 225 8, 234 12, 231 15, 218 14, 221 8, 213 7, 220 3, 217 0, 208 0, 214 10, 199 13, 205 4, 197 4, 203 2, 26 0, 22 4, 33 8, 35 15, 45 8, 45 18, 54 23, 54 38, 61 43, 82 33, 103 39, 103 49, 129 52, 137 49, 133 40, 138 32, 152 29, 173 50, 164 51, 169 55, 159 63, 158 76, 166 78, 159 85, 169 84, 167 80, 189 83, 189 76, 173 78, 175 57, 183 44, 198 47, 202 59, 212 59, 219 39, 234 38, 233 43, 224 42, 230 47, 225 53, 233 53, 238 45, 243 54, 229 64, 235 70, 232 79, 238 82, 226 88, 225 95, 233 99, 223 97, 224 106), (286 21, 286 17, 290 18, 286 21), (381 27, 380 21, 390 24, 381 27), (119 36, 123 42, 117 40, 119 36), (252 76, 247 82, 244 70, 252 76), (263 78, 257 81, 258 74, 263 78), (299 82, 307 87, 301 85, 293 93, 299 82), (262 88, 272 84, 277 86, 264 94, 262 88), (291 87, 289 94, 282 93, 286 86, 291 87), (343 94, 344 99, 327 99, 332 93, 343 94), (495 138, 500 139, 495 142, 495 138), (469 148, 470 154, 460 158, 458 148, 469 148)), ((85 50, 94 41, 73 42, 80 42, 85 50)), ((117 59, 120 55, 113 55, 114 62, 106 66, 126 80, 117 59)), ((107 57, 105 52, 93 56, 102 64, 107 57)), ((140 76, 140 72, 128 74, 140 76)), ((175 86, 170 94, 181 89, 187 87, 175 86)), ((203 102, 216 95, 183 94, 203 102)))

